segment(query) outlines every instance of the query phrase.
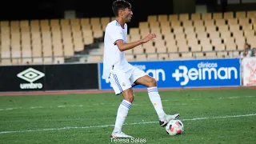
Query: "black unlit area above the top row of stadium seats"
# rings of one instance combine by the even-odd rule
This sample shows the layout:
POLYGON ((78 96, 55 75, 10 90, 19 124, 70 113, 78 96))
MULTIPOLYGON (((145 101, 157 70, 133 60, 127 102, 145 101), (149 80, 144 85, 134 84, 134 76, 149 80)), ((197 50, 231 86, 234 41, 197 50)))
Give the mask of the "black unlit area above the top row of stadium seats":
MULTIPOLYGON (((132 4, 133 21, 146 21, 150 14, 194 13, 196 5, 206 5, 208 12, 256 10, 254 4, 227 5, 228 0, 127 0, 132 4), (218 1, 222 5, 218 5, 218 1)), ((111 5, 114 0, 37 0, 4 1, 0 20, 64 18, 66 10, 75 10, 77 18, 113 17, 111 5)), ((256 0, 255 0, 256 2, 256 0)))

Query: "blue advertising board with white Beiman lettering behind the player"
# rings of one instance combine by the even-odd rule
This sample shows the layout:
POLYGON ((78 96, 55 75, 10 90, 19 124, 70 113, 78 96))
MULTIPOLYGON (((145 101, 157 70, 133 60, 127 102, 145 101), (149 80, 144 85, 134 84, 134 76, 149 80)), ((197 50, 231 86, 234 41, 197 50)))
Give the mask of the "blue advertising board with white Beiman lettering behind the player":
MULTIPOLYGON (((130 64, 155 78, 158 88, 240 86, 239 58, 130 62, 130 64)), ((109 80, 102 79, 102 69, 103 64, 99 63, 100 88, 110 90, 112 88, 109 80)))

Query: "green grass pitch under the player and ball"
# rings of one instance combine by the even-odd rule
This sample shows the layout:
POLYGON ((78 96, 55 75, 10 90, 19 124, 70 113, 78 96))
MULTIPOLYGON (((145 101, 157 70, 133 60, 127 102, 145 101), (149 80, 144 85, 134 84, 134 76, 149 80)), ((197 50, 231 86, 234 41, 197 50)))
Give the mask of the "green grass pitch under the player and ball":
MULTIPOLYGON (((166 113, 181 114, 184 134, 166 134, 146 92, 135 93, 123 132, 153 144, 256 142, 256 90, 160 90, 159 94, 166 113)), ((127 143, 109 138, 121 101, 122 95, 114 94, 2 96, 0 143, 127 143)))

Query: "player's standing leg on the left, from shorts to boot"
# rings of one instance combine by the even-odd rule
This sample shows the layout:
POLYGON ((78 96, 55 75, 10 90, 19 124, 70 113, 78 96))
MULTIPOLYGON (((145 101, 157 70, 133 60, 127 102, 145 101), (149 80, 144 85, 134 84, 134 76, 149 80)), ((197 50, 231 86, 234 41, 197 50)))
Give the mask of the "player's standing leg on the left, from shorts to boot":
MULTIPOLYGON (((129 77, 128 77, 129 78, 129 77)), ((114 124, 114 130, 111 138, 131 138, 130 135, 122 133, 122 126, 130 110, 130 106, 134 100, 134 92, 131 89, 130 81, 126 78, 126 74, 118 72, 110 76, 111 85, 115 94, 122 94, 123 100, 118 107, 118 113, 114 124)))

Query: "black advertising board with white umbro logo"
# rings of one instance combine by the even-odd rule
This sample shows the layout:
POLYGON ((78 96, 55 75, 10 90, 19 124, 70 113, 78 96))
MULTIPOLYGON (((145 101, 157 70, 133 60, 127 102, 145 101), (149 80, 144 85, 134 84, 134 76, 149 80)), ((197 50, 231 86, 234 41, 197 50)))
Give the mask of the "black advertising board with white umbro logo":
POLYGON ((1 66, 0 91, 31 90, 92 90, 98 89, 98 64, 1 66), (33 83, 42 83, 42 89, 21 89, 20 84, 30 83, 17 74, 28 68, 39 70, 44 77, 33 83))

